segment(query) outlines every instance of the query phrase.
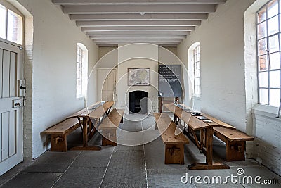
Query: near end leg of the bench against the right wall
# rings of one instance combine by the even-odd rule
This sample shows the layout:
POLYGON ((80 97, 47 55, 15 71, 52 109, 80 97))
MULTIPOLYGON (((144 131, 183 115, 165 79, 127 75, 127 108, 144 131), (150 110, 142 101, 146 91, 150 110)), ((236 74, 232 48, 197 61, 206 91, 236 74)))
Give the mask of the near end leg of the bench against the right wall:
POLYGON ((245 141, 226 142, 226 161, 245 161, 245 141))

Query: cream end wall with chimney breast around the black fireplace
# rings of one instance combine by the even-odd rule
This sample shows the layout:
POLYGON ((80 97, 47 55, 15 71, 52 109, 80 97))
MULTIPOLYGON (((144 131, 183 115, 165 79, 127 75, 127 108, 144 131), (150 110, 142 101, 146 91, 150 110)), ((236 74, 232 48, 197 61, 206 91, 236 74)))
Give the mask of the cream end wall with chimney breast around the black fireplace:
MULTIPOLYGON (((117 108, 124 108, 126 109, 125 113, 129 113, 129 92, 143 90, 148 92, 148 98, 151 101, 151 103, 148 103, 148 109, 151 110, 150 113, 158 112, 158 61, 168 65, 182 65, 176 53, 176 47, 162 48, 152 44, 120 45, 119 49, 114 47, 100 47, 100 60, 96 64, 96 67, 114 68, 118 65, 117 108), (150 68, 150 86, 129 87, 126 75, 128 68, 150 68)), ((184 69, 184 65, 182 65, 182 68, 184 69)), ((97 82, 103 81, 97 78, 97 82)), ((174 101, 174 99, 171 100, 174 101)))

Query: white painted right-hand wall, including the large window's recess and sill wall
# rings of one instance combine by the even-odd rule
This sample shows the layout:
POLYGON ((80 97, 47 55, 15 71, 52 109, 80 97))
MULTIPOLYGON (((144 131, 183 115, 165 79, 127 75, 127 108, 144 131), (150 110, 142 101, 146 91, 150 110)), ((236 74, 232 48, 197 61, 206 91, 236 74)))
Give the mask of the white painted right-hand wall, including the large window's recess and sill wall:
POLYGON ((202 111, 255 136, 247 142, 246 156, 280 175, 277 108, 257 104, 255 13, 266 2, 228 0, 218 6, 178 46, 178 56, 188 65, 188 48, 200 42, 202 111))

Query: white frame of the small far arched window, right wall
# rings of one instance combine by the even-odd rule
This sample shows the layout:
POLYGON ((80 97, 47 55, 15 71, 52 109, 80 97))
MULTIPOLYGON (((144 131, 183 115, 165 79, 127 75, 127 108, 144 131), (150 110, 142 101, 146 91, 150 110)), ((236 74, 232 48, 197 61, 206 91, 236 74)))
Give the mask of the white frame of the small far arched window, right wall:
POLYGON ((194 49, 192 49, 192 58, 193 58, 193 97, 195 99, 201 98, 201 51, 200 51, 200 44, 195 46, 194 49), (197 61, 197 56, 199 56, 197 61), (197 68, 197 65, 199 65, 199 68, 197 68), (196 74, 197 73, 197 74, 196 74), (198 74, 199 73, 199 74, 198 74), (199 76, 196 76, 199 75, 199 76), (197 84, 195 84, 195 80, 197 80, 197 84), (197 92, 195 92, 195 88, 197 88, 197 92))

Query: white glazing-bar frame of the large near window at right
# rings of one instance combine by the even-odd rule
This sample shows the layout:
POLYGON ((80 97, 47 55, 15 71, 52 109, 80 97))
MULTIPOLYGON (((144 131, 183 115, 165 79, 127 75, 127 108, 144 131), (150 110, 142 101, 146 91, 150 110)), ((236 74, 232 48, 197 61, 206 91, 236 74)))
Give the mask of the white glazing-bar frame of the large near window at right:
MULTIPOLYGON (((266 105, 269 105, 269 106, 274 106, 274 104, 271 104, 270 102, 270 89, 279 89, 280 91, 280 99, 281 99, 281 0, 277 0, 277 6, 278 6, 278 13, 277 15, 272 15, 272 16, 268 16, 268 5, 273 3, 273 1, 275 0, 271 0, 271 1, 268 1, 266 4, 264 4, 263 6, 261 6, 261 8, 259 8, 259 11, 256 12, 256 49, 257 49, 257 77, 258 77, 258 102, 259 104, 266 104, 266 105), (259 22, 259 13, 265 8, 266 10, 266 18, 262 21, 259 22), (273 19, 273 18, 278 18, 278 31, 273 33, 273 34, 269 34, 269 21, 270 19, 273 19), (259 25, 261 24, 266 24, 266 36, 263 36, 263 37, 260 37, 260 33, 259 32, 259 25), (279 42, 279 50, 277 51, 270 51, 270 37, 275 37, 277 36, 278 38, 278 42, 279 42), (265 50, 265 54, 260 54, 260 46, 259 46, 259 42, 261 42, 261 40, 265 39, 266 40, 266 50, 265 50), (272 54, 279 54, 279 63, 280 63, 280 68, 278 69, 271 69, 270 68, 270 55, 272 54), (265 65, 267 66, 267 69, 266 70, 261 70, 261 56, 266 56, 265 58, 265 65), (270 86, 270 73, 273 73, 273 72, 277 72, 279 71, 279 87, 271 87, 270 86), (261 79, 261 73, 266 73, 267 74, 267 86, 268 87, 261 87, 261 82, 260 82, 260 79, 261 79), (267 103, 263 103, 261 102, 261 89, 267 89, 268 93, 267 93, 267 96, 268 96, 268 99, 267 100, 267 103)), ((277 106, 279 106, 279 104, 277 104, 277 106)))

